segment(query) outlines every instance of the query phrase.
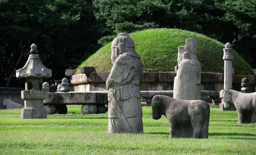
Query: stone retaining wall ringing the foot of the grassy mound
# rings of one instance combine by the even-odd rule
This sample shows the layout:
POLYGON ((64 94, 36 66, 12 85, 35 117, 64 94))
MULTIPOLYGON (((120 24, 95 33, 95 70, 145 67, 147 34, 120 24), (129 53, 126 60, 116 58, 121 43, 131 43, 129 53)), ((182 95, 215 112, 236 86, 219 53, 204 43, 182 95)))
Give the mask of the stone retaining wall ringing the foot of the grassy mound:
MULTIPOLYGON (((92 72, 87 74, 77 74, 71 77, 71 84, 74 91, 103 91, 106 90, 106 80, 110 72, 92 72)), ((173 90, 175 72, 144 72, 140 90, 173 90)), ((254 92, 255 75, 233 75, 233 89, 240 91, 241 81, 247 77, 250 81, 250 90, 254 92)), ((224 88, 224 74, 221 73, 201 73, 201 90, 220 91, 224 88)), ((208 95, 201 97, 206 102, 211 101, 208 95)))

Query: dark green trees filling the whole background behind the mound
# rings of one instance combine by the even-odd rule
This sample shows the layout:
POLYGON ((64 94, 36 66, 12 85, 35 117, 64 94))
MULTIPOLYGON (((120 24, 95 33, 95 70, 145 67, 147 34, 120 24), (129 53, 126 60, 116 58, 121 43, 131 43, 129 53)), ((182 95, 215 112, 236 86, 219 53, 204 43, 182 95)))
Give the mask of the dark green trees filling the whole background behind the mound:
POLYGON ((230 42, 255 68, 255 25, 255 0, 1 0, 0 87, 24 87, 13 71, 32 43, 58 80, 118 33, 157 27, 230 42))

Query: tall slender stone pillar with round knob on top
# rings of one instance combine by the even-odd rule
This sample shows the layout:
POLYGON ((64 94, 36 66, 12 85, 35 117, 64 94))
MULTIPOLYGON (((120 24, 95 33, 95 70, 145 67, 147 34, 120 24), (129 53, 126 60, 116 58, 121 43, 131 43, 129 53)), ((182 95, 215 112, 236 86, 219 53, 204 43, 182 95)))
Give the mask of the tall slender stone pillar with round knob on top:
MULTIPOLYGON (((232 60, 234 59, 233 56, 233 49, 230 43, 225 44, 225 48, 223 49, 223 60, 224 60, 224 89, 220 90, 220 111, 225 110, 234 110, 234 106, 230 109, 225 109, 223 106, 223 93, 226 89, 232 89, 232 60)), ((236 108, 235 108, 236 109, 236 108)))

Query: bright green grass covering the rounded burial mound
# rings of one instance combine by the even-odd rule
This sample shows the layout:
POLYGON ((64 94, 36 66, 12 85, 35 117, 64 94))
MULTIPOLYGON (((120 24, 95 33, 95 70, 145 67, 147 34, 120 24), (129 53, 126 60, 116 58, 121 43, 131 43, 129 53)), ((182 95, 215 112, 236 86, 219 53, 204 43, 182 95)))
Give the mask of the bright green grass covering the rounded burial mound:
MULTIPOLYGON (((197 39, 197 56, 203 72, 224 73, 224 44, 205 35, 180 29, 148 29, 129 34, 135 43, 135 50, 141 56, 144 71, 174 71, 178 65, 178 46, 185 46, 185 40, 197 39)), ((98 72, 110 71, 111 43, 100 48, 86 59, 81 66, 93 66, 98 72)), ((252 68, 234 52, 233 67, 235 74, 253 75, 252 68)))

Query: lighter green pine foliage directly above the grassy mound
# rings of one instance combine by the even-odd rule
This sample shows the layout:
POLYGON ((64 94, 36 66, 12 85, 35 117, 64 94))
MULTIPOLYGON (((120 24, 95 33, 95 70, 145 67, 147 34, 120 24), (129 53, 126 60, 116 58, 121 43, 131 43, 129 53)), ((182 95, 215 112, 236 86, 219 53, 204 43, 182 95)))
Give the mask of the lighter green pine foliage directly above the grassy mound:
POLYGON ((169 27, 196 31, 233 44, 256 67, 255 0, 94 0, 94 14, 106 23, 106 44, 119 32, 169 27))

